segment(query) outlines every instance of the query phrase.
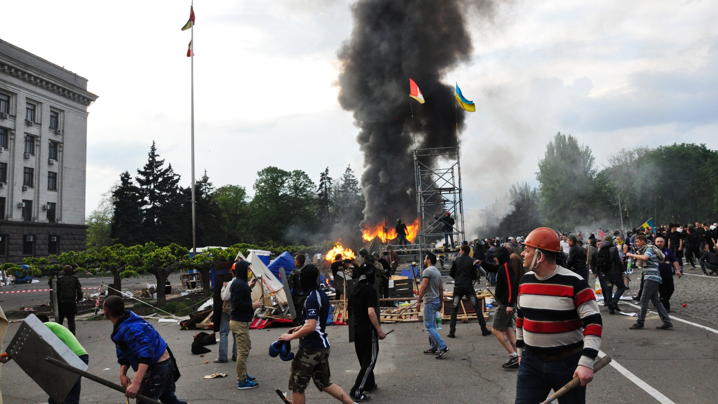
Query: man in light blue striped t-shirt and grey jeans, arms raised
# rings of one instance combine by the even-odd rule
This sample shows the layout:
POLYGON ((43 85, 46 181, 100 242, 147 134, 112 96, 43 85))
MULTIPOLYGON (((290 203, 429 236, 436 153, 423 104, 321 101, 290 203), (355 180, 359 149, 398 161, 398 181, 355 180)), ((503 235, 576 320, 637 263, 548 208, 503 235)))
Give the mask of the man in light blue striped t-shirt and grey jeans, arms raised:
POLYGON ((638 247, 638 254, 629 252, 627 255, 630 258, 638 260, 637 265, 643 267, 643 295, 640 297, 640 313, 638 313, 638 319, 633 326, 628 328, 632 330, 643 328, 645 313, 648 312, 648 300, 651 300, 656 311, 658 311, 658 316, 661 317, 661 321, 663 321, 663 324, 657 326, 656 329, 672 329, 673 323, 671 323, 671 318, 668 317, 666 308, 663 307, 660 295, 658 294, 658 285, 661 285, 661 272, 658 271, 658 262, 663 261, 663 257, 665 256, 656 246, 648 244, 648 238, 643 234, 635 238, 635 244, 638 247))

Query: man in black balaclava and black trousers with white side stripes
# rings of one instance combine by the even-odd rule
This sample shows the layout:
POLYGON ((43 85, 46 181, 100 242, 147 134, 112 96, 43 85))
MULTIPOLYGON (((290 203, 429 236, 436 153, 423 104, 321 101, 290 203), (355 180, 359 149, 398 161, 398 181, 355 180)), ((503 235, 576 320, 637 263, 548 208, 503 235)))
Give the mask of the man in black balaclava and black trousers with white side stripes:
POLYGON ((379 353, 379 340, 384 339, 386 334, 379 324, 379 295, 374 288, 376 267, 364 262, 355 270, 356 275, 359 275, 359 282, 349 298, 349 310, 354 318, 354 349, 361 369, 349 396, 355 401, 366 401, 370 399, 366 393, 373 392, 377 387, 374 365, 379 353))

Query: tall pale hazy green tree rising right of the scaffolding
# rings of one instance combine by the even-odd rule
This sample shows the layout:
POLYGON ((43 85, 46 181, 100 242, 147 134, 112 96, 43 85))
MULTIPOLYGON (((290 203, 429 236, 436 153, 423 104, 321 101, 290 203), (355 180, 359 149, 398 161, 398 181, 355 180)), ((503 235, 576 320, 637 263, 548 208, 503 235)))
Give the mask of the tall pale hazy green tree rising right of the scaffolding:
POLYGON ((545 223, 556 229, 574 229, 590 221, 596 206, 593 200, 596 170, 587 145, 579 144, 570 134, 557 133, 546 145, 546 154, 538 162, 536 179, 540 183, 539 210, 545 223))

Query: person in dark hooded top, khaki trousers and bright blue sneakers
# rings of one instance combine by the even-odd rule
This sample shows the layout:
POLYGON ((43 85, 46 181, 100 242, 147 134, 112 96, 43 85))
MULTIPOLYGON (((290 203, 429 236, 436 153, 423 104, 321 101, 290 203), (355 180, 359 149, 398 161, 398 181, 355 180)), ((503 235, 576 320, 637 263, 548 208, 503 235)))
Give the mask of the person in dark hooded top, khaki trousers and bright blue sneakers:
POLYGON ((247 280, 249 262, 242 260, 234 265, 234 280, 230 287, 232 296, 232 313, 230 313, 229 329, 237 340, 237 388, 240 390, 258 387, 254 377, 247 374, 247 358, 252 343, 249 340, 249 322, 254 311, 262 306, 262 301, 252 303, 252 291, 247 280))

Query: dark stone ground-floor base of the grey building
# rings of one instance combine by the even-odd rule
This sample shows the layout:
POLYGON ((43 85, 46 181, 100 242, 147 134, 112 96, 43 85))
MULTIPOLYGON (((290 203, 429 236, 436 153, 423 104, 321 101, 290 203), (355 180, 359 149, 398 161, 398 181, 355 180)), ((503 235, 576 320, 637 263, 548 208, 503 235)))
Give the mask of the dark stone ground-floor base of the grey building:
POLYGON ((0 262, 22 264, 24 257, 85 251, 87 227, 83 224, 0 220, 0 262))

